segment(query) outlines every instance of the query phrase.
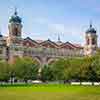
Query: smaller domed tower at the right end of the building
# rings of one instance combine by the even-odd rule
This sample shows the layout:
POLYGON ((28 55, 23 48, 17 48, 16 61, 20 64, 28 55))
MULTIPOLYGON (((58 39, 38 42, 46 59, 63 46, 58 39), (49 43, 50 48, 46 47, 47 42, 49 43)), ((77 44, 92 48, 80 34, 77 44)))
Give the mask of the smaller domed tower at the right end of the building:
POLYGON ((97 34, 91 23, 89 29, 85 33, 85 40, 84 54, 87 56, 94 55, 97 49, 97 34))

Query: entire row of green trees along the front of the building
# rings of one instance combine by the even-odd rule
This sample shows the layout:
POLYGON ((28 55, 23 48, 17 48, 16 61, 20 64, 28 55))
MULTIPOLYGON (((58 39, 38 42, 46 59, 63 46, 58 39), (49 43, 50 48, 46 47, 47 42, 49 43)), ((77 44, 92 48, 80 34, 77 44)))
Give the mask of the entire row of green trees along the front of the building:
MULTIPOLYGON (((0 61, 0 81, 8 81, 11 77, 18 80, 35 80, 38 78, 40 66, 30 58, 17 58, 14 64, 0 61)), ((45 65, 42 68, 41 79, 100 81, 100 52, 91 57, 64 58, 45 65)))

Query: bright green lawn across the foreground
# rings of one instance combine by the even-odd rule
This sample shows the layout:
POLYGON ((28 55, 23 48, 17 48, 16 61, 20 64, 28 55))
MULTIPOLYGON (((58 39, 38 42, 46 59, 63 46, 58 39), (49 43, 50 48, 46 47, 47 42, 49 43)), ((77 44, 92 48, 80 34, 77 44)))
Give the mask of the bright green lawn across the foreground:
POLYGON ((0 100, 100 100, 98 86, 33 85, 0 87, 0 100))

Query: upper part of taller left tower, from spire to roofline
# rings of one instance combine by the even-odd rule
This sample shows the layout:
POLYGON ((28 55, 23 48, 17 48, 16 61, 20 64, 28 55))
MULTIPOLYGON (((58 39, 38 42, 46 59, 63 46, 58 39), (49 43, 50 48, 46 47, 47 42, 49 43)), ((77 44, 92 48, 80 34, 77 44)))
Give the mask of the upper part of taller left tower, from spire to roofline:
POLYGON ((8 29, 9 29, 9 38, 10 39, 8 41, 8 45, 12 44, 13 42, 19 42, 19 39, 21 39, 21 35, 22 35, 21 22, 22 22, 22 20, 18 16, 17 9, 15 9, 14 14, 9 19, 8 29))

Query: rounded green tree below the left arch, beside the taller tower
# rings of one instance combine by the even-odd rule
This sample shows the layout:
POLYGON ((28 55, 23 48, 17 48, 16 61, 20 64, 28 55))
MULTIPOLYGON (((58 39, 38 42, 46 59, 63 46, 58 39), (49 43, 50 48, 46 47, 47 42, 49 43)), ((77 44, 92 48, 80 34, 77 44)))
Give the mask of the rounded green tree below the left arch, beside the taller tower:
POLYGON ((29 79, 34 80, 37 78, 38 66, 35 61, 29 57, 17 58, 12 67, 14 68, 14 74, 17 79, 27 82, 29 79))

